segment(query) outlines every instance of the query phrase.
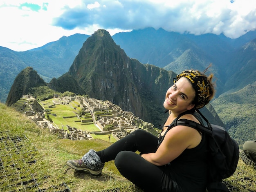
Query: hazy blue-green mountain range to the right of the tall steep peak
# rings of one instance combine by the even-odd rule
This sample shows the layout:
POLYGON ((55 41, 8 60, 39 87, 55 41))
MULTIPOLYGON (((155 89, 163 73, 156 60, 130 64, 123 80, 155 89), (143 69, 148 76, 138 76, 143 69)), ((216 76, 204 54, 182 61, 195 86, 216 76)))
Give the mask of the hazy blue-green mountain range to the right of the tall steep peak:
POLYGON ((216 77, 217 93, 211 104, 216 113, 240 147, 245 141, 255 139, 256 93, 252 90, 255 90, 253 85, 256 83, 256 31, 249 31, 237 39, 227 38, 223 34, 195 36, 170 32, 163 44, 158 44, 157 41, 163 42, 161 37, 165 38, 164 35, 157 36, 157 40, 147 38, 158 33, 163 34, 163 29, 117 33, 113 39, 128 56, 137 58, 142 63, 164 66, 164 69, 175 73, 188 68, 202 71, 212 63, 211 71, 216 77), (122 36, 125 40, 122 40, 122 36), (166 44, 170 47, 166 47, 166 44), (157 60, 150 57, 155 50, 156 53, 163 54, 162 58, 157 60), (140 52, 144 54, 138 54, 140 52), (164 58, 168 58, 167 65, 164 58))

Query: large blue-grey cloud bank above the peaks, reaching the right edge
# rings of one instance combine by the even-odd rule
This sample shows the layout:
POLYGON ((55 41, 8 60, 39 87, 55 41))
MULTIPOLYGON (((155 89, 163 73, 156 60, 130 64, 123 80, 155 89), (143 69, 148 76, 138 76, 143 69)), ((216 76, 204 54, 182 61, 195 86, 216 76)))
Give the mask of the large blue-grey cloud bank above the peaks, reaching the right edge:
POLYGON ((256 6, 252 0, 99 0, 66 7, 53 25, 75 29, 99 25, 124 30, 162 27, 168 31, 193 34, 224 33, 237 38, 256 28, 256 6))

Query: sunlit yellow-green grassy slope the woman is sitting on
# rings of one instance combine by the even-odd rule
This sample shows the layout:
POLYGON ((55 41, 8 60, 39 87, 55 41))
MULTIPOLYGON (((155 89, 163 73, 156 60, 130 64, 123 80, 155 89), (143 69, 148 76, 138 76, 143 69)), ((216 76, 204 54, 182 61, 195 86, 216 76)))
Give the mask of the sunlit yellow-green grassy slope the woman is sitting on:
MULTIPOLYGON (((2 103, 0 103, 0 132, 0 157, 2 160, 5 159, 0 167, 0 191, 18 189, 37 191, 38 188, 58 191, 53 186, 56 188, 62 183, 65 183, 72 192, 92 192, 114 188, 120 188, 123 192, 140 191, 119 174, 113 161, 106 163, 101 176, 92 176, 86 171, 78 172, 66 165, 67 160, 79 159, 91 148, 101 150, 111 145, 107 141, 58 139, 49 130, 41 129, 23 114, 2 103), (9 132, 6 132, 7 130, 9 132), (17 152, 13 147, 6 148, 7 139, 4 139, 4 134, 26 136, 27 140, 19 145, 17 152), (31 147, 35 147, 36 150, 31 150, 31 147), (29 158, 35 159, 36 163, 26 163, 29 158), (34 181, 31 178, 34 178, 34 181), (26 181, 29 181, 26 185, 19 184, 26 181), (33 188, 34 183, 36 187, 33 188)), ((255 170, 240 160, 236 173, 226 181, 234 186, 231 191, 256 191, 255 175, 255 170)))

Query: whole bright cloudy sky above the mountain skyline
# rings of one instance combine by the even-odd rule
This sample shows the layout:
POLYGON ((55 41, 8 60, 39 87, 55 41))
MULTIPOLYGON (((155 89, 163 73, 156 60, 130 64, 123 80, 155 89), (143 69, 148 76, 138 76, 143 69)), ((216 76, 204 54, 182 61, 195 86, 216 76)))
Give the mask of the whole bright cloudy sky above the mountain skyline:
POLYGON ((238 38, 256 30, 255 0, 0 0, 0 46, 27 51, 75 33, 160 27, 238 38))

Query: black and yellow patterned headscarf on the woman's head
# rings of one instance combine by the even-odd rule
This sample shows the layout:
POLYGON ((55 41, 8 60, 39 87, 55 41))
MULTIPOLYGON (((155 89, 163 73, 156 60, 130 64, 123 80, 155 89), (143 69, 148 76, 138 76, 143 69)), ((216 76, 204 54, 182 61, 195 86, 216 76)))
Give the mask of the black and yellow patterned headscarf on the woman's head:
POLYGON ((206 76, 200 74, 199 71, 186 70, 173 79, 174 83, 181 77, 188 78, 195 89, 195 109, 201 109, 204 105, 209 103, 210 100, 208 97, 211 96, 212 90, 206 76))

